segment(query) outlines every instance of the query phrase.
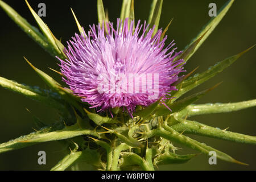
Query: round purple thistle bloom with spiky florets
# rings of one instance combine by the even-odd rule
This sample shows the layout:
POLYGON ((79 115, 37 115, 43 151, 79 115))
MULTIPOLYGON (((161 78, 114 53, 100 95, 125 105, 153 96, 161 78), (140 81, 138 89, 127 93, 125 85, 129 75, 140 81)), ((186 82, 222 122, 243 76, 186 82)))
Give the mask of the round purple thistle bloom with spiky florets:
POLYGON ((113 23, 105 28, 93 24, 86 38, 75 34, 65 49, 68 59, 59 59, 63 80, 73 93, 98 111, 123 107, 130 114, 137 105, 167 99, 184 71, 184 61, 174 61, 181 51, 170 51, 174 41, 164 48, 167 36, 160 40, 162 30, 152 36, 154 27, 148 30, 146 21, 129 26, 128 19, 123 24, 117 19, 117 28, 113 23))

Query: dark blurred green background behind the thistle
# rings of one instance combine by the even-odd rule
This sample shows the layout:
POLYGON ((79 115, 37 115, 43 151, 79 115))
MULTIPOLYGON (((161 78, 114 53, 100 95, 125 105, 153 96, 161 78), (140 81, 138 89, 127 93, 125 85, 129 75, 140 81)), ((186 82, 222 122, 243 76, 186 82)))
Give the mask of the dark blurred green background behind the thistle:
MULTIPOLYGON (((178 50, 182 50, 197 35, 205 23, 210 20, 208 5, 216 3, 217 10, 227 0, 164 0, 163 10, 159 27, 165 28, 174 18, 167 34, 170 42, 175 39, 178 50)), ((20 15, 36 26, 30 10, 24 1, 5 0, 20 15)), ((46 17, 42 17, 56 38, 61 38, 64 45, 75 32, 78 32, 70 7, 75 11, 81 26, 88 30, 89 24, 97 23, 96 0, 89 1, 29 1, 32 8, 37 12, 38 4, 46 3, 46 17)), ((135 0, 135 19, 147 20, 150 11, 149 0, 135 0)), ((109 18, 114 23, 119 17, 122 1, 104 1, 104 6, 109 11, 109 18)), ((237 0, 233 3, 224 19, 191 57, 185 68, 188 72, 199 66, 196 73, 203 72, 217 61, 235 55, 256 43, 256 1, 237 0)), ((47 88, 46 84, 24 61, 26 56, 37 68, 60 81, 59 75, 52 72, 48 67, 58 70, 57 60, 49 56, 38 44, 30 39, 16 24, 0 9, 0 76, 18 81, 31 86, 47 88)), ((207 102, 238 102, 255 98, 255 48, 247 52, 231 67, 225 69, 218 76, 199 86, 193 92, 199 92, 217 84, 223 83, 201 98, 197 104, 207 102)), ((29 100, 19 94, 0 88, 0 143, 20 135, 31 133, 35 127, 29 109, 46 123, 55 121, 56 114, 38 102, 29 100)), ((229 131, 256 135, 255 107, 225 114, 210 114, 192 119, 206 125, 226 129, 229 131)), ((161 170, 255 170, 256 169, 256 146, 249 144, 232 143, 218 139, 195 137, 200 142, 226 152, 241 162, 250 164, 241 166, 238 164, 217 160, 217 165, 210 166, 209 156, 198 155, 186 164, 160 166, 161 170)), ((0 170, 48 170, 61 159, 61 145, 58 142, 46 142, 20 150, 0 154, 0 170), (46 151, 47 164, 38 164, 38 151, 46 151)), ((197 151, 183 147, 180 154, 197 151)))

